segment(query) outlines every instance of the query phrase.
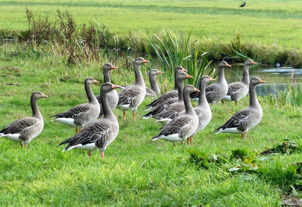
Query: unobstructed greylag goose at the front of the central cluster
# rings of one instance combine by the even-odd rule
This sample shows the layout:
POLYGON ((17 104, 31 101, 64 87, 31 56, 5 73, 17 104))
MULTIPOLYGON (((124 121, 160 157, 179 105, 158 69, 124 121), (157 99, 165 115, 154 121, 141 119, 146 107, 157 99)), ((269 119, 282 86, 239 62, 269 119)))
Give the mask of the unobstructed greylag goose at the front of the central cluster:
POLYGON ((191 136, 198 127, 198 117, 191 105, 189 99, 189 93, 199 92, 198 89, 192 85, 186 85, 183 90, 183 99, 185 103, 185 113, 171 120, 166 126, 162 128, 162 131, 154 136, 152 140, 166 140, 168 142, 175 143, 183 141, 185 138, 191 136))

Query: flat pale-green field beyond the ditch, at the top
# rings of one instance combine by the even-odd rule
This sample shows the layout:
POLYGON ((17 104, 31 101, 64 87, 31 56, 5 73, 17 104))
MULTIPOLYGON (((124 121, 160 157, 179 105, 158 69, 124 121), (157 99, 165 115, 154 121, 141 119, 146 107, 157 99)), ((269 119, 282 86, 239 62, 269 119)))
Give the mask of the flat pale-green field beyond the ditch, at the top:
POLYGON ((286 49, 301 49, 302 14, 299 0, 255 0, 246 7, 238 8, 243 1, 9 1, 0 2, 2 15, 0 28, 7 30, 27 30, 25 6, 37 15, 56 16, 56 9, 67 9, 81 25, 97 20, 110 28, 111 33, 123 38, 146 29, 159 33, 162 27, 188 32, 198 39, 220 38, 229 43, 238 30, 244 41, 254 43, 275 43, 286 49))

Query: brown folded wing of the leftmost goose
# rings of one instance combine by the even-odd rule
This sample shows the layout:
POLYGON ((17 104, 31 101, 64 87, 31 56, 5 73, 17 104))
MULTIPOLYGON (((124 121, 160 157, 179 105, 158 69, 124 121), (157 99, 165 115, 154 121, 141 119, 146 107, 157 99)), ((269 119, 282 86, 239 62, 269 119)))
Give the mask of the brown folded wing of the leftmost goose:
POLYGON ((16 121, 12 122, 7 127, 5 127, 3 130, 1 130, 0 133, 3 133, 3 134, 21 133, 24 129, 26 129, 27 127, 31 127, 36 123, 37 123, 37 120, 35 118, 31 118, 31 117, 18 119, 16 121))

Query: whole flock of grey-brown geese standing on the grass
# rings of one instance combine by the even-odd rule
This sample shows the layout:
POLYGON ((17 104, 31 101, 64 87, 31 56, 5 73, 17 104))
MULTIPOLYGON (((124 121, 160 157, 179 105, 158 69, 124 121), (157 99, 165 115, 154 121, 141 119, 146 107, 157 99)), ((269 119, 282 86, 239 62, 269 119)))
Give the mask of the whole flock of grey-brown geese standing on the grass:
MULTIPOLYGON (((59 145, 67 144, 63 151, 69 149, 87 150, 89 157, 92 151, 99 150, 104 158, 106 147, 114 141, 118 132, 119 124, 112 111, 118 108, 124 111, 133 111, 133 119, 138 106, 143 102, 145 96, 158 97, 160 89, 155 76, 162 74, 161 71, 153 69, 149 72, 151 88, 145 86, 143 76, 140 71, 142 64, 149 63, 144 58, 136 58, 133 62, 135 82, 130 86, 114 85, 110 81, 109 71, 117 69, 107 63, 103 66, 104 84, 101 85, 100 94, 95 96, 91 85, 99 83, 92 77, 85 79, 85 91, 88 103, 76 105, 75 107, 55 114, 55 122, 66 124, 76 128, 76 135, 63 141, 59 145), (119 93, 115 89, 122 88, 119 93)), ((227 84, 224 77, 224 68, 231 67, 225 61, 221 61, 218 66, 217 83, 208 85, 215 79, 209 76, 202 76, 199 81, 199 89, 192 85, 184 87, 184 80, 193 78, 187 74, 183 67, 175 67, 175 87, 173 90, 162 94, 152 103, 148 104, 143 116, 144 119, 154 118, 162 125, 161 131, 152 140, 166 140, 175 143, 187 139, 188 145, 193 145, 193 136, 204 129, 212 118, 209 103, 215 104, 220 100, 237 102, 245 97, 249 92, 249 107, 236 112, 225 124, 215 130, 217 133, 242 134, 246 138, 249 129, 255 127, 262 119, 262 108, 257 100, 255 86, 265 83, 258 77, 249 79, 249 66, 256 64, 252 60, 246 60, 243 69, 243 79, 240 82, 227 84), (193 108, 191 100, 198 101, 198 105, 193 108)), ((8 140, 28 143, 37 137, 43 130, 43 117, 37 107, 37 100, 47 98, 43 93, 36 91, 31 94, 32 116, 18 119, 0 131, 0 137, 8 140)))

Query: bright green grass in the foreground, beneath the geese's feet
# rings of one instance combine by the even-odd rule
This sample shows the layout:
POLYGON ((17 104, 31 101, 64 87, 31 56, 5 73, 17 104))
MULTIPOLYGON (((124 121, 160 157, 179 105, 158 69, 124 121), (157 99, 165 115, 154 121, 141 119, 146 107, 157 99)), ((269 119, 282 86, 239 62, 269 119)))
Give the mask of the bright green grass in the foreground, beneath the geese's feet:
MULTIPOLYGON (((232 176, 221 166, 199 169, 187 162, 188 149, 205 153, 230 152, 247 147, 263 151, 285 137, 301 134, 301 109, 297 107, 270 107, 261 101, 264 116, 257 127, 250 130, 247 139, 240 135, 213 134, 234 112, 248 105, 243 99, 237 107, 233 103, 211 105, 210 124, 193 139, 194 146, 176 147, 163 140, 151 141, 160 126, 153 119, 142 119, 147 98, 138 108, 137 120, 131 111, 126 121, 122 111, 114 110, 120 131, 108 146, 105 159, 99 152, 88 158, 87 152, 61 152, 57 145, 71 137, 75 129, 59 123, 50 123, 49 117, 74 105, 86 102, 83 80, 92 76, 102 82, 98 63, 65 65, 60 56, 18 58, 0 55, 0 128, 17 118, 31 115, 30 94, 39 90, 49 96, 38 100, 44 117, 44 130, 32 140, 28 149, 18 143, 0 140, 0 203, 3 206, 281 206, 285 192, 283 180, 266 182, 262 178, 250 181, 232 176), (6 85, 9 83, 20 86, 6 85), (4 93, 3 93, 4 92, 4 93)), ((116 84, 133 83, 133 72, 120 61, 117 71, 111 73, 116 84)), ((146 67, 142 68, 145 80, 146 67)), ((172 88, 165 74, 158 76, 162 92, 172 88)), ((93 85, 95 94, 100 85, 93 85)), ((262 100, 262 99, 260 99, 262 100)), ((196 103, 194 103, 196 104, 196 103)), ((302 145, 302 141, 299 141, 302 145)), ((300 153, 277 155, 284 165, 301 161, 300 153)), ((273 176, 273 173, 272 173, 273 176)), ((281 177, 281 176, 280 176, 281 177)), ((268 180, 268 178, 267 178, 268 180)), ((289 189, 291 189, 289 187, 289 189)), ((298 196, 302 194, 298 192, 298 196)))

